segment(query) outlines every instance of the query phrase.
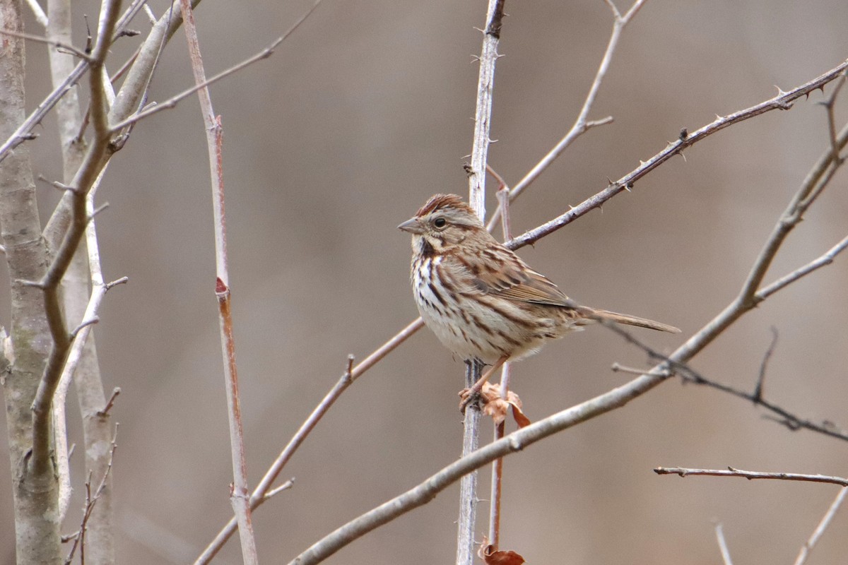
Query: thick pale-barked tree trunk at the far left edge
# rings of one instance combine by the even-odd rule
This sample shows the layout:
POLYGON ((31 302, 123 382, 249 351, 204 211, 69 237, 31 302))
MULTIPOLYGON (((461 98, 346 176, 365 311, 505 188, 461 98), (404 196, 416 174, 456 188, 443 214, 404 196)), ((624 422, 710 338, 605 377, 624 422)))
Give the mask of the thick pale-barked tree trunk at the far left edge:
MULTIPOLYGON (((24 29, 20 0, 0 0, 0 21, 8 30, 24 29)), ((22 39, 3 37, 0 57, 0 139, 14 136, 25 119, 25 49, 22 39)), ((0 230, 11 294, 9 345, 14 364, 3 379, 8 457, 14 496, 15 549, 19 563, 59 563, 58 485, 52 469, 27 472, 32 446, 32 399, 50 347, 44 295, 24 280, 42 278, 47 248, 40 237, 29 149, 19 147, 0 162, 0 230)), ((8 360, 4 359, 3 363, 8 360)))

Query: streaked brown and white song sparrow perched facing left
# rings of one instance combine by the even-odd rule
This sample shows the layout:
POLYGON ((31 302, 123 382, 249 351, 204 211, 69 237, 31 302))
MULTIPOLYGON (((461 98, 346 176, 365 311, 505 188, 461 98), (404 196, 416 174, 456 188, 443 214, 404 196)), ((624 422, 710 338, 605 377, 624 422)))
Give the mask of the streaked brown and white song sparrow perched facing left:
POLYGON ((412 234, 410 280, 424 323, 455 355, 492 365, 474 386, 477 392, 505 361, 600 320, 680 331, 572 302, 494 239, 454 194, 431 197, 398 228, 412 234))

